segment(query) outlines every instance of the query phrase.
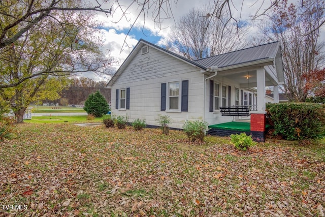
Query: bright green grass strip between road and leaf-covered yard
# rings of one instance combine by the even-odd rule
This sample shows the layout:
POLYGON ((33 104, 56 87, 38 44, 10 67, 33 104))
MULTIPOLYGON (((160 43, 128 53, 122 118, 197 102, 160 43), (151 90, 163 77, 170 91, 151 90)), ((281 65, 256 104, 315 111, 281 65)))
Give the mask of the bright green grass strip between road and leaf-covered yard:
POLYGON ((33 116, 31 120, 24 120, 26 123, 87 123, 101 122, 103 117, 96 117, 87 120, 87 116, 33 116))

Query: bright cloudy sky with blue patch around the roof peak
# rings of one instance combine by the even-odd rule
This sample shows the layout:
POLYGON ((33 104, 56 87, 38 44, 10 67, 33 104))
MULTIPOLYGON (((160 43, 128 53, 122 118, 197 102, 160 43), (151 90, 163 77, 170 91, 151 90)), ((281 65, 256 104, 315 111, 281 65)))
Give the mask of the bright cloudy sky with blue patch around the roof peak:
MULTIPOLYGON (((292 1, 294 0, 291 0, 291 2, 292 1)), ((170 30, 179 18, 186 15, 192 8, 202 7, 203 5, 213 3, 212 0, 169 0, 170 6, 165 5, 163 7, 166 13, 161 15, 162 19, 160 19, 160 26, 153 21, 152 11, 154 11, 154 5, 152 5, 149 10, 145 10, 146 16, 141 14, 135 25, 130 30, 139 14, 140 7, 138 5, 132 5, 129 7, 125 16, 123 16, 115 1, 114 3, 112 3, 113 1, 108 2, 109 3, 103 5, 102 8, 112 8, 112 15, 107 17, 104 14, 98 14, 95 19, 98 19, 99 22, 103 23, 103 26, 101 27, 101 34, 105 39, 104 46, 102 47, 103 51, 107 55, 110 54, 110 56, 116 60, 112 65, 113 72, 119 68, 140 39, 164 47, 170 30), (130 32, 128 33, 129 30, 130 32)), ((131 2, 133 1, 119 0, 121 7, 124 9, 129 6, 131 2)), ((152 1, 150 2, 153 4, 152 1)), ((257 11, 262 12, 266 10, 267 7, 270 6, 270 0, 233 0, 230 6, 234 17, 242 21, 247 21, 250 26, 248 32, 251 36, 258 32, 258 20, 252 22, 250 15, 254 15, 257 11)), ((96 77, 95 75, 88 75, 87 77, 95 80, 103 79, 96 77)), ((110 77, 108 77, 108 79, 110 79, 110 77)))

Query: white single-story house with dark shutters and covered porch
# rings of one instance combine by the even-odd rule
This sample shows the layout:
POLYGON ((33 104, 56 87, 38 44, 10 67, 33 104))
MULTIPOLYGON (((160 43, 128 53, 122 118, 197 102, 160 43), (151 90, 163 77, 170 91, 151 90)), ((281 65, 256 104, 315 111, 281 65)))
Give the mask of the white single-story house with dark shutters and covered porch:
POLYGON ((157 126, 158 114, 169 115, 171 127, 182 129, 185 120, 213 126, 245 116, 253 137, 264 137, 266 86, 273 86, 273 102, 279 102, 283 82, 279 42, 189 60, 141 39, 108 87, 112 113, 127 114, 130 122, 144 118, 157 126))

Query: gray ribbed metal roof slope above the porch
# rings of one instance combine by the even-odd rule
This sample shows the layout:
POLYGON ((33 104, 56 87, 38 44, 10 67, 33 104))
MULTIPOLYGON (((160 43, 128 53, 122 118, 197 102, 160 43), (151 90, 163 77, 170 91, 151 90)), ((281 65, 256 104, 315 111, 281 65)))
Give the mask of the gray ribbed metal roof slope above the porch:
POLYGON ((218 68, 229 67, 256 60, 275 58, 279 46, 280 42, 272 42, 193 61, 206 68, 212 66, 217 66, 218 68))

